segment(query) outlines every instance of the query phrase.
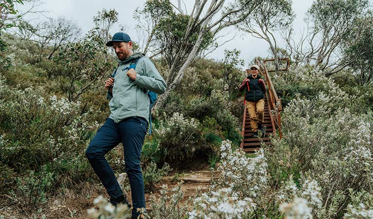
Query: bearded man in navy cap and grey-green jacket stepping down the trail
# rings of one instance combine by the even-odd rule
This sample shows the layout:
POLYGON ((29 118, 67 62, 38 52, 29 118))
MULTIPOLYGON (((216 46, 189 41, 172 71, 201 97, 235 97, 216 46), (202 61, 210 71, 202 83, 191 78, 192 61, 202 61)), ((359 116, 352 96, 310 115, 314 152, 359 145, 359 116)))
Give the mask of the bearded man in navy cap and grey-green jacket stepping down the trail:
POLYGON ((149 58, 132 52, 132 41, 127 34, 116 33, 106 45, 114 48, 119 59, 115 76, 108 78, 105 84, 111 114, 89 143, 86 156, 107 189, 110 202, 114 205, 128 204, 104 157, 112 148, 123 143, 125 172, 131 185, 132 218, 137 218, 139 213, 136 209, 145 207, 140 155, 149 122, 147 91, 164 93, 166 83, 149 58), (128 69, 134 63, 135 69, 128 69))

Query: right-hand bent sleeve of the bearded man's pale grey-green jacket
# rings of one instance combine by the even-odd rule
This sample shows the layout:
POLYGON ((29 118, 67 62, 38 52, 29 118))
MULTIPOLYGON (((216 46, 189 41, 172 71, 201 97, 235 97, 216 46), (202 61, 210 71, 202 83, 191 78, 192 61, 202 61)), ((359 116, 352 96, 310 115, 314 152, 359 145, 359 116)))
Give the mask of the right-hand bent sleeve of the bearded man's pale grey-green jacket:
POLYGON ((166 91, 166 82, 149 58, 140 59, 135 71, 137 73, 135 84, 158 94, 166 91))

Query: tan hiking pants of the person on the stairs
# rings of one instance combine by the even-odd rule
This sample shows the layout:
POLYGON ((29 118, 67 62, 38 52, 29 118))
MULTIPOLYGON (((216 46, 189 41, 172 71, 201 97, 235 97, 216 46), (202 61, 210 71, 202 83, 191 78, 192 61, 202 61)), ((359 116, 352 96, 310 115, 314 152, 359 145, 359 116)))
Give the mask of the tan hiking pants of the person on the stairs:
POLYGON ((258 101, 246 101, 246 108, 249 111, 249 119, 252 132, 258 130, 258 123, 264 121, 264 98, 258 101))

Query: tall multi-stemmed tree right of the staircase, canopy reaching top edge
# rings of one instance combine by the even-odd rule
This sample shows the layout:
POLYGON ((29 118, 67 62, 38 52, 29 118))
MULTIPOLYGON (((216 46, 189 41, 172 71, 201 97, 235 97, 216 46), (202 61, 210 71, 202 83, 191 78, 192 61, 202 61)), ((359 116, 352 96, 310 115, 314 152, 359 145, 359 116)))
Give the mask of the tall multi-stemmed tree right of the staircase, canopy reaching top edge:
POLYGON ((338 59, 332 55, 341 41, 351 34, 356 20, 367 11, 367 0, 315 0, 309 8, 308 18, 313 24, 315 40, 319 45, 316 53, 315 69, 320 67, 326 75, 336 73, 338 59))

